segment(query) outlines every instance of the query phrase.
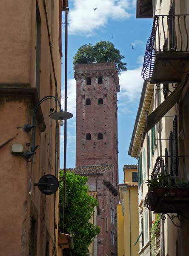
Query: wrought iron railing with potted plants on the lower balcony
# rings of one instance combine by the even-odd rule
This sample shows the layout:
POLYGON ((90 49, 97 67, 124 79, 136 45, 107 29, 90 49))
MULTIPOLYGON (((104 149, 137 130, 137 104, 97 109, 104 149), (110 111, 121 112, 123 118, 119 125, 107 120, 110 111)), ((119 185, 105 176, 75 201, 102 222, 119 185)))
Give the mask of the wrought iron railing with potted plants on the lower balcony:
POLYGON ((146 208, 153 211, 157 207, 158 198, 189 198, 189 178, 185 164, 186 157, 188 158, 189 156, 157 158, 151 180, 148 180, 147 184, 149 189, 144 202, 146 208))

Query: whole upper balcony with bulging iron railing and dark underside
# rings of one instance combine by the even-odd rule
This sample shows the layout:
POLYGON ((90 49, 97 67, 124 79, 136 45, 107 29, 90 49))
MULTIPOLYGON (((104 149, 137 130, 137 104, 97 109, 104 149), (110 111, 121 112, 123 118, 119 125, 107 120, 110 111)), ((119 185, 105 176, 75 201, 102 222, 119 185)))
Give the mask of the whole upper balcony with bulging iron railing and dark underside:
POLYGON ((177 83, 189 72, 189 15, 156 15, 147 41, 142 77, 177 83))

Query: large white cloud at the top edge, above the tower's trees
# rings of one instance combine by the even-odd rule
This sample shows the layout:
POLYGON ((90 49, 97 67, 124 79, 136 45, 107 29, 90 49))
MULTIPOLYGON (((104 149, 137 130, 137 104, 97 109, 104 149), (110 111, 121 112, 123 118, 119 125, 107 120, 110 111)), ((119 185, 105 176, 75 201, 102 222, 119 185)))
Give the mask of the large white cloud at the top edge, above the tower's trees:
POLYGON ((132 17, 136 0, 72 0, 69 12, 69 34, 95 35, 109 19, 123 20, 132 17), (94 11, 94 8, 97 8, 94 11))

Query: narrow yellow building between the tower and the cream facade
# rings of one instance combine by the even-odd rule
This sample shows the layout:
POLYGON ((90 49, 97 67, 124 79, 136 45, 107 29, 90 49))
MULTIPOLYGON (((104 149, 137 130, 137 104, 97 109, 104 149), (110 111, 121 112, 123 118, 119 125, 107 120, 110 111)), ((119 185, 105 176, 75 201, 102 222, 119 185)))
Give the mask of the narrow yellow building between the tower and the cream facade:
POLYGON ((117 255, 137 256, 138 183, 137 165, 125 165, 124 183, 118 184, 120 204, 117 205, 117 255))

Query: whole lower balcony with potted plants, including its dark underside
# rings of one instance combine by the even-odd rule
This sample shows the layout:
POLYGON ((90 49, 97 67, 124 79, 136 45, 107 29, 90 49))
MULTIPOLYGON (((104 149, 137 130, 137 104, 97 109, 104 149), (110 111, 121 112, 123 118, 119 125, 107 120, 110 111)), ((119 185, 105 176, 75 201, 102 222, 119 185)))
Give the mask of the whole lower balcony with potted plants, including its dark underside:
POLYGON ((144 205, 150 211, 180 214, 184 209, 188 209, 189 180, 185 157, 158 157, 147 185, 149 189, 144 205))

